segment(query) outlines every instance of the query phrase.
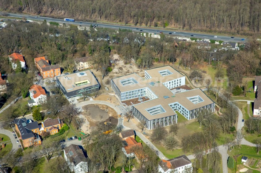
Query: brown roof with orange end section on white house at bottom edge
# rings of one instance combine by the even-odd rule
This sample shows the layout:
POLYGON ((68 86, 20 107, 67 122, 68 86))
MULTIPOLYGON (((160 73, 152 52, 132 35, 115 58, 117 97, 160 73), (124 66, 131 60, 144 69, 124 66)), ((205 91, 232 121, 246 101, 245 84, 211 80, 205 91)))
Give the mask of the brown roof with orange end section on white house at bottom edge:
POLYGON ((168 169, 176 169, 190 163, 191 161, 187 158, 187 156, 182 155, 169 160, 161 160, 159 165, 164 171, 167 171, 168 169))

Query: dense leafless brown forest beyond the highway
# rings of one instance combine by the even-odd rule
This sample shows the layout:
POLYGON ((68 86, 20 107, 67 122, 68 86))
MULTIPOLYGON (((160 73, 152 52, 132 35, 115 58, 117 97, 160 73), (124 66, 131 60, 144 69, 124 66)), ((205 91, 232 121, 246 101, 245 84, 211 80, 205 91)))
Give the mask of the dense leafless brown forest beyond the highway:
POLYGON ((259 0, 0 0, 0 4, 7 11, 82 20, 241 34, 261 31, 259 0))

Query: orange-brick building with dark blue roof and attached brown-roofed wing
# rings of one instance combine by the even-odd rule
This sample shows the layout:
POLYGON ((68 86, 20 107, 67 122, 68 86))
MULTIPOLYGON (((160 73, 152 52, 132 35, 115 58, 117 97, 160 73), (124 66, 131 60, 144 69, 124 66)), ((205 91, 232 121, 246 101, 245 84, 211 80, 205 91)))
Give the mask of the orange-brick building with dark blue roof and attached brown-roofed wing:
POLYGON ((20 118, 15 119, 14 123, 15 129, 20 135, 19 139, 22 140, 24 147, 40 145, 40 135, 44 131, 50 132, 51 135, 54 135, 58 133, 63 126, 63 122, 59 118, 47 118, 44 122, 39 124, 37 121, 32 121, 31 119, 20 118))

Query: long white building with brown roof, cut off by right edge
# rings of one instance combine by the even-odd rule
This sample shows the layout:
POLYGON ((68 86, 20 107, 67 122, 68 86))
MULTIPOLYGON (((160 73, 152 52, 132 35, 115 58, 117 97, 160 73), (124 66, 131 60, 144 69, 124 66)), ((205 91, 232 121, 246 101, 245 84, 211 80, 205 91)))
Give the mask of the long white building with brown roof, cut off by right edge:
POLYGON ((261 76, 256 76, 255 84, 254 84, 254 92, 256 93, 256 98, 254 99, 254 109, 253 109, 253 117, 260 118, 261 117, 261 98, 259 97, 261 91, 261 76), (260 86, 259 86, 260 85, 260 86))

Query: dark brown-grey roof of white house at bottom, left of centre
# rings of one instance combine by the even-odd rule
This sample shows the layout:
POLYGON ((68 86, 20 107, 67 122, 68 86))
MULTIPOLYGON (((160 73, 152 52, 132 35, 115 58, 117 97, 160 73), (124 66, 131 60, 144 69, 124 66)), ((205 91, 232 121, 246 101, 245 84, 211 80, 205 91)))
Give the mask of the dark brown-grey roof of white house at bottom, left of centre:
POLYGON ((84 155, 82 147, 79 145, 71 144, 64 149, 66 157, 73 163, 75 166, 81 162, 87 162, 87 156, 84 155))

